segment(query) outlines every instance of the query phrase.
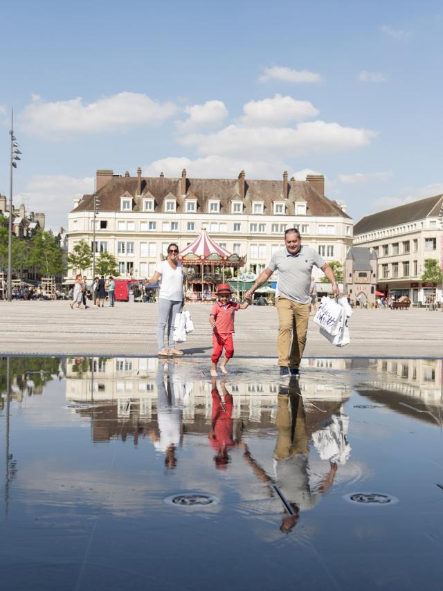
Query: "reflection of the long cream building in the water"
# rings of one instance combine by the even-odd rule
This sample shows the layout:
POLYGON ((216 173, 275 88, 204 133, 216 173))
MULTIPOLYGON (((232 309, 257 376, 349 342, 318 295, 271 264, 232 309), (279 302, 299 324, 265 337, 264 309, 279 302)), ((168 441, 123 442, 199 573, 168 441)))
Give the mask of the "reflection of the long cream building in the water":
MULTIPOLYGON (((93 403, 90 408, 75 410, 92 418, 94 440, 117 435, 136 440, 139 430, 149 430, 156 425, 157 358, 93 358, 92 362, 87 359, 82 365, 75 361, 67 361, 66 399, 73 403, 93 403)), ((338 369, 343 365, 343 360, 316 361, 319 368, 338 369)), ((186 375, 182 379, 178 372, 177 376, 173 374, 172 383, 177 390, 186 392, 184 428, 188 433, 207 433, 213 405, 211 383, 208 379, 192 379, 186 375)), ((248 425, 255 427, 257 423, 263 427, 275 426, 278 388, 278 383, 264 381, 260 376, 256 380, 230 383, 228 389, 234 399, 232 418, 241 418, 246 428, 248 425)), ((339 379, 307 375, 303 379, 302 394, 307 406, 310 400, 322 400, 338 409, 350 396, 350 390, 339 379)))

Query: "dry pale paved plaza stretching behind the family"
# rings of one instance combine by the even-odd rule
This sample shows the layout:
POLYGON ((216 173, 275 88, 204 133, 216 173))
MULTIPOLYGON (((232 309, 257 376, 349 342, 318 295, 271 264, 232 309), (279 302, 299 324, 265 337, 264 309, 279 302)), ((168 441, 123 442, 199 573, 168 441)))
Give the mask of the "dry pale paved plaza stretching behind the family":
MULTIPOLYGON (((195 331, 180 347, 188 355, 210 356, 210 305, 190 304, 195 331)), ((40 355, 155 355, 157 304, 71 310, 67 301, 0 302, 0 352, 40 355)), ((235 356, 276 356, 275 307, 252 306, 237 312, 235 356)), ((410 310, 355 310, 351 343, 334 347, 310 320, 305 356, 441 357, 443 313, 410 310)))

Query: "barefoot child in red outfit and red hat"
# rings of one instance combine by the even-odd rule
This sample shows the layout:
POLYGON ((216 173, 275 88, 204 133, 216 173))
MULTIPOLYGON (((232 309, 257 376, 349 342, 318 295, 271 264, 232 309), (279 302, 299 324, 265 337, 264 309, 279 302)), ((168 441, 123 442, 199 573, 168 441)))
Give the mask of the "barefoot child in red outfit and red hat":
POLYGON ((237 310, 244 310, 251 303, 251 299, 247 299, 243 304, 231 302, 230 296, 232 291, 227 283, 221 283, 217 287, 218 302, 214 304, 210 311, 209 322, 213 327, 213 356, 211 361, 213 365, 210 370, 211 376, 217 376, 217 363, 223 353, 224 359, 220 363, 220 370, 227 374, 226 363, 234 354, 233 332, 234 330, 234 314, 237 310))

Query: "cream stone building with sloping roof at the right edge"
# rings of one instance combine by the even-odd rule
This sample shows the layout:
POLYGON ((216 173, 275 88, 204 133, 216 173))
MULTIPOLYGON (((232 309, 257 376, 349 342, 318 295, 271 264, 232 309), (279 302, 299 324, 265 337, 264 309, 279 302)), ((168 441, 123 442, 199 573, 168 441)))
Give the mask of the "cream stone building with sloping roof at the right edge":
POLYGON ((363 217, 354 226, 354 245, 377 255, 378 289, 408 296, 413 304, 442 299, 442 283, 422 282, 424 261, 443 266, 443 195, 363 217))

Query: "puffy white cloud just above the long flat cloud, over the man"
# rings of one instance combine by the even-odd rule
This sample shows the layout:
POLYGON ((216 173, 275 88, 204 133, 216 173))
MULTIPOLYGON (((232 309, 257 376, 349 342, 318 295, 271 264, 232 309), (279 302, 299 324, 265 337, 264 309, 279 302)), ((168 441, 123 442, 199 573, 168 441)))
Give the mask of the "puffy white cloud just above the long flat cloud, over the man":
POLYGON ((307 100, 295 100, 281 94, 264 100, 250 100, 244 104, 243 111, 244 125, 284 125, 310 119, 320 112, 307 100))

